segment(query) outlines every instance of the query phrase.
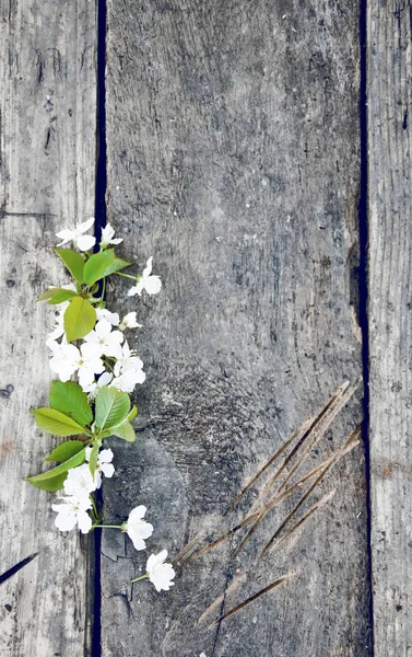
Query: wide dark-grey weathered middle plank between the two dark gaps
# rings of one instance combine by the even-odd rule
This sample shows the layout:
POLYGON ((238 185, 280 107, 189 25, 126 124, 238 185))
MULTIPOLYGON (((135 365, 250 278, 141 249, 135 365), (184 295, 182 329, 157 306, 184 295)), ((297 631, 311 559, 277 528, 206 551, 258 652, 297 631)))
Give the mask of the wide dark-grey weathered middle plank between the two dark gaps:
MULTIPOLYGON (((148 381, 145 429, 117 448, 105 514, 145 504, 153 552, 219 533, 258 465, 361 371, 357 24, 357 2, 108 3, 108 219, 125 256, 154 256, 164 289, 109 296, 139 310, 148 381)), ((361 414, 338 418, 327 453, 361 414)), ((169 593, 132 589, 144 556, 105 533, 103 654, 369 655, 362 449, 318 499, 332 488, 298 541, 255 565, 289 500, 234 564, 237 537, 186 562, 169 593), (290 572, 217 627, 197 623, 226 589, 210 621, 290 572)))

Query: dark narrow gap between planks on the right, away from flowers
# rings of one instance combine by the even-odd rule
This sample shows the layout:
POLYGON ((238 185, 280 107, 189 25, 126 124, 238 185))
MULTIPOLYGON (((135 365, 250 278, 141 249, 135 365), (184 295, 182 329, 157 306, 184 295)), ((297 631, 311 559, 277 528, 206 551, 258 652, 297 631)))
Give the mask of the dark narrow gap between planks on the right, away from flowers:
POLYGON ((374 648, 374 609, 372 590, 372 546, 370 546, 370 451, 369 451, 369 328, 368 328, 368 135, 367 135, 367 0, 360 0, 360 137, 361 137, 361 192, 358 201, 360 231, 360 326, 362 331, 362 369, 364 379, 364 424, 365 479, 367 507, 367 551, 369 584, 369 654, 374 648))

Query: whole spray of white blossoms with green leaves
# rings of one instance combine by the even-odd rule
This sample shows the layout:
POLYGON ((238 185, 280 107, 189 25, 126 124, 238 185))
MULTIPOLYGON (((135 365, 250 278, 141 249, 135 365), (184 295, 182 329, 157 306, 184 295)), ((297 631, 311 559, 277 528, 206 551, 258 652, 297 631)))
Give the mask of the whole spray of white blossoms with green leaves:
MULTIPOLYGON (((50 407, 32 413, 42 429, 75 438, 63 441, 47 457, 46 461, 58 463, 55 468, 27 481, 44 491, 62 491, 59 503, 51 506, 60 531, 75 527, 82 533, 95 528, 118 529, 129 535, 136 550, 142 551, 153 533, 153 526, 144 520, 146 508, 140 505, 132 509, 122 525, 104 525, 95 496, 103 476, 115 474, 113 450, 103 448, 103 440, 110 436, 136 440, 131 420, 137 408, 131 406, 129 395, 145 380, 143 362, 125 335, 141 328, 137 312, 121 320, 110 312, 105 303, 105 286, 108 276, 118 275, 133 281, 129 296, 141 296, 143 291, 157 295, 162 281, 152 275, 152 257, 141 276, 125 274, 131 263, 115 254, 111 245, 120 244, 122 239, 115 238, 110 224, 102 231, 98 252, 90 253, 96 245, 96 239, 87 234, 93 223, 91 218, 57 233, 61 242, 55 251, 74 283, 50 287, 39 299, 56 307, 55 325, 46 344, 50 369, 58 380, 51 384, 50 407), (70 242, 74 250, 60 249, 70 242)), ((166 550, 152 554, 145 574, 132 581, 149 578, 157 591, 169 590, 175 572, 172 564, 165 563, 166 557, 166 550)))

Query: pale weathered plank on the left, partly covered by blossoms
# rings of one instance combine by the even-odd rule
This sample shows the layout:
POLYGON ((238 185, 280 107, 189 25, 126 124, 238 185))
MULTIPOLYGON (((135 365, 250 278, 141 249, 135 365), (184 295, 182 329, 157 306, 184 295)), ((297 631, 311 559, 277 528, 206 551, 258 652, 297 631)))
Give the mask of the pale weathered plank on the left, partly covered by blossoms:
POLYGON ((0 7, 0 573, 37 553, 0 585, 0 653, 80 657, 91 642, 90 545, 60 534, 52 496, 23 479, 40 471, 54 443, 28 413, 47 402, 51 378, 54 315, 35 300, 64 281, 51 252, 56 230, 93 215, 95 8, 63 0, 0 7))

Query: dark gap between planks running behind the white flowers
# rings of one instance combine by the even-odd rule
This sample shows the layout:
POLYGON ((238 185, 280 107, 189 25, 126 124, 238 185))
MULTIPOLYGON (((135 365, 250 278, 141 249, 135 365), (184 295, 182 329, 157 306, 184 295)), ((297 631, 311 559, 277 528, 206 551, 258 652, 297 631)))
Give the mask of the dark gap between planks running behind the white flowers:
MULTIPOLYGON (((106 0, 97 0, 97 107, 96 107, 96 181, 95 181, 95 237, 96 250, 101 242, 102 230, 106 226, 106 25, 107 8, 106 0)), ((97 506, 102 508, 102 489, 96 491, 97 506)), ((91 578, 93 588, 92 607, 92 631, 91 631, 91 657, 102 655, 102 530, 93 532, 93 544, 91 550, 92 568, 91 578)))

